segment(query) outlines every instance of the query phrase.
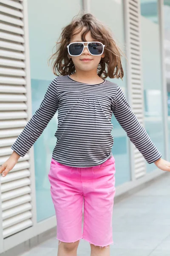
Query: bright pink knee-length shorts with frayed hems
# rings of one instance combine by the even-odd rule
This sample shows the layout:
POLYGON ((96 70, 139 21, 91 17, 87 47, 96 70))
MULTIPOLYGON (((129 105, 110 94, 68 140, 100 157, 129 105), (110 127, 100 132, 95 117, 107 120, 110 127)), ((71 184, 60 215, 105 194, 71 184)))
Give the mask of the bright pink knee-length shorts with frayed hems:
POLYGON ((59 241, 71 243, 85 239, 100 247, 113 244, 115 172, 113 156, 99 166, 87 168, 65 166, 52 158, 48 179, 59 241))

